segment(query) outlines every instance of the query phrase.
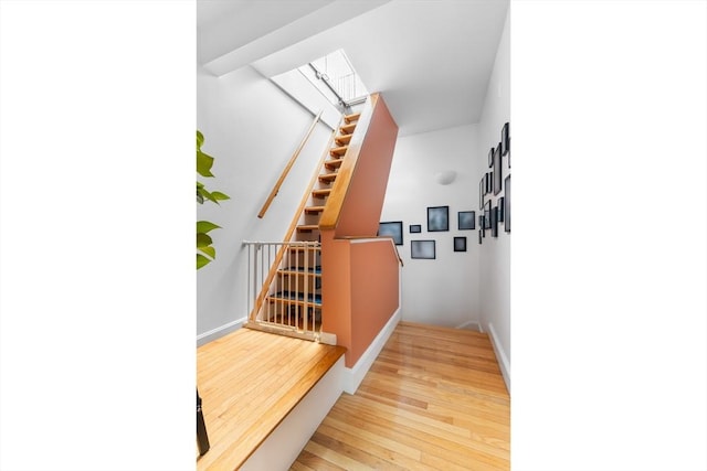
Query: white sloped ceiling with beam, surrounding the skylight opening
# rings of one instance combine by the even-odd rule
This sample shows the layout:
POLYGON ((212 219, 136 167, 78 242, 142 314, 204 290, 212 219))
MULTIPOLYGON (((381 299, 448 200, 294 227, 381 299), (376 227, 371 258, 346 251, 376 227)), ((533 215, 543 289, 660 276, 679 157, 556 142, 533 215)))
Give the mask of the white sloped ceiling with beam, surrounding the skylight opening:
POLYGON ((507 0, 198 0, 199 62, 265 76, 344 49, 400 135, 477 122, 507 0))

